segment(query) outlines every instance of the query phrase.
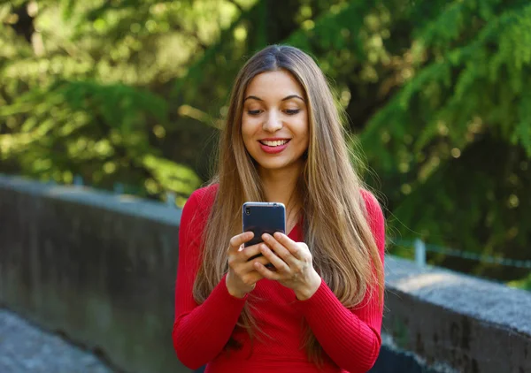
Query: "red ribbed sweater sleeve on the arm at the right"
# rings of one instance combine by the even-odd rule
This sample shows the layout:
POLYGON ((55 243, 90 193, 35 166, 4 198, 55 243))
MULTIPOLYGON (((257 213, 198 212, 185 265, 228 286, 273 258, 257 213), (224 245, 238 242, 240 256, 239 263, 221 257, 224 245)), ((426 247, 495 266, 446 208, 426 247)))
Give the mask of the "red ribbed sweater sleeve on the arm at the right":
MULTIPOLYGON (((373 194, 362 191, 367 218, 383 263, 385 228, 381 207, 373 194)), ((380 353, 383 305, 371 286, 356 308, 345 308, 335 293, 321 282, 306 301, 297 301, 307 323, 327 355, 342 369, 362 373, 373 367, 380 353)))

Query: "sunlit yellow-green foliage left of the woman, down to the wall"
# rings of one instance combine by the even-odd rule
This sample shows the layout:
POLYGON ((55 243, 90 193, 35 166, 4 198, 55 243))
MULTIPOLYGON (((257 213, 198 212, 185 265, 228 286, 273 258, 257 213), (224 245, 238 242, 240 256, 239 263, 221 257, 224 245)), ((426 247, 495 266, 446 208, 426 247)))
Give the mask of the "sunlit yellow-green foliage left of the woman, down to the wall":
POLYGON ((64 183, 78 174, 93 186, 127 183, 150 196, 191 193, 200 180, 165 160, 170 141, 161 146, 176 127, 167 81, 249 4, 0 5, 2 171, 64 183))

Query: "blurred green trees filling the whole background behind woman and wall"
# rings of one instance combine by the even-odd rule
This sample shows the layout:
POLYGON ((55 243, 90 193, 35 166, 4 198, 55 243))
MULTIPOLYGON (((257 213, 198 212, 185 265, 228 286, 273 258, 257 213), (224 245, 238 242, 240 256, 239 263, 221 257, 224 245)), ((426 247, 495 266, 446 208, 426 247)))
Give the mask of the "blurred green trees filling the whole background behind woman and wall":
POLYGON ((182 205, 236 72, 272 43, 330 78, 389 252, 420 238, 468 253, 429 263, 531 288, 521 263, 473 259, 531 258, 528 0, 4 2, 0 172, 182 205))

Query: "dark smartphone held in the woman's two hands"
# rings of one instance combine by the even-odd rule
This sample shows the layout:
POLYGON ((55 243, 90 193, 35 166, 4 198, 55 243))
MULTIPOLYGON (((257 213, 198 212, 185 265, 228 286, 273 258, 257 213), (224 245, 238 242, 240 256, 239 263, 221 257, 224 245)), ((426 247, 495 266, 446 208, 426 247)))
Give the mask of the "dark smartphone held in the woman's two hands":
POLYGON ((262 242, 262 234, 286 232, 286 207, 280 202, 245 202, 242 206, 243 232, 253 232, 254 237, 245 247, 262 242))

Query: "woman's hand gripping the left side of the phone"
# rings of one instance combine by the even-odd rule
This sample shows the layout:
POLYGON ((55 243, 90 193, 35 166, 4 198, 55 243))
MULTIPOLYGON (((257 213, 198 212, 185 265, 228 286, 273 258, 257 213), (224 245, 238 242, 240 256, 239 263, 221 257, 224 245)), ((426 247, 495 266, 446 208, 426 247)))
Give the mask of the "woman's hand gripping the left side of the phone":
POLYGON ((266 265, 269 261, 260 253, 259 244, 243 248, 243 244, 252 240, 253 232, 243 232, 230 239, 227 249, 228 273, 225 278, 228 293, 236 298, 243 298, 256 286, 258 280, 264 278, 254 269, 254 263, 266 265), (254 255, 260 255, 249 260, 254 255))

